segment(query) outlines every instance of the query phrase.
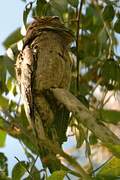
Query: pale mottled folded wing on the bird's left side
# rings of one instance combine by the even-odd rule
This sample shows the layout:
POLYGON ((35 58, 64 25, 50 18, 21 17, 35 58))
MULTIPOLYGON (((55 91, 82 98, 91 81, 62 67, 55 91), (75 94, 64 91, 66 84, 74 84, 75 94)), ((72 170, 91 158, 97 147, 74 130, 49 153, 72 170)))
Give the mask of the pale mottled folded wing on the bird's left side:
POLYGON ((33 114, 32 97, 32 75, 33 75, 34 57, 32 50, 26 46, 18 55, 16 61, 16 77, 20 86, 21 96, 24 103, 25 112, 31 123, 33 114))

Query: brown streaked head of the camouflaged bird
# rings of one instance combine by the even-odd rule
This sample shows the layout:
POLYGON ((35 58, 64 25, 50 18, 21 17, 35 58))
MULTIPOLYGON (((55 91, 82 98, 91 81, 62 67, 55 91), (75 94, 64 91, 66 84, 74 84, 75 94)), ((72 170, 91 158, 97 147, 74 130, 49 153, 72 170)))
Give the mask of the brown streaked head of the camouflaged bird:
POLYGON ((42 31, 53 31, 58 33, 66 43, 69 44, 73 40, 71 31, 61 23, 58 16, 34 17, 34 21, 28 26, 25 44, 29 43, 42 31))

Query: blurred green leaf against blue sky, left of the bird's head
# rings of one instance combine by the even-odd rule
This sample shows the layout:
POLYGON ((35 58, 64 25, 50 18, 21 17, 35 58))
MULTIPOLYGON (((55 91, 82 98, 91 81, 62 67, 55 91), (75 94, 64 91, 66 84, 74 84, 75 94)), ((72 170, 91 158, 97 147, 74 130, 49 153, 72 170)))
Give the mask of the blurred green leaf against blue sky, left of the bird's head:
POLYGON ((3 45, 5 48, 10 47, 12 44, 18 42, 23 38, 23 36, 20 33, 21 28, 16 29, 14 32, 12 32, 3 42, 3 45))

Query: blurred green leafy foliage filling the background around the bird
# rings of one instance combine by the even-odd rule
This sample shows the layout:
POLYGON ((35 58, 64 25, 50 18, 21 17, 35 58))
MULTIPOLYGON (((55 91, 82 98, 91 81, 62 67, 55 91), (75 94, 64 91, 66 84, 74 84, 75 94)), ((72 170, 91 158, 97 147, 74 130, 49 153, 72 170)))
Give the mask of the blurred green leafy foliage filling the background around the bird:
MULTIPOLYGON (((118 35, 120 34, 119 0, 81 0, 80 2, 79 0, 35 0, 28 4, 26 0, 23 1, 26 4, 23 12, 25 27, 28 25, 29 16, 54 15, 59 16, 64 25, 73 32, 75 38, 71 44, 71 52, 75 62, 72 69, 70 91, 95 114, 98 124, 114 124, 117 127, 120 121, 120 111, 105 110, 104 107, 111 97, 109 93, 112 93, 112 97, 118 97, 120 89, 120 54, 117 54, 116 51, 119 46, 118 35), (95 95, 97 89, 102 94, 101 98, 95 95)), ((12 59, 7 54, 0 56, 0 147, 5 145, 6 133, 8 133, 38 156, 34 134, 28 125, 23 105, 18 100, 19 92, 15 80, 17 43, 23 39, 20 29, 20 27, 16 29, 3 42, 4 47, 11 50, 12 59)), ((95 167, 92 164, 91 151, 98 145, 102 147, 102 142, 94 132, 90 132, 83 124, 80 124, 73 115, 70 117, 69 127, 76 138, 76 149, 81 149, 82 145, 85 145, 84 152, 86 151, 89 161, 87 161, 86 169, 89 169, 90 177, 94 176, 95 179, 119 178, 119 145, 107 146, 117 158, 114 157, 106 162, 94 173, 95 167)), ((32 153, 28 153, 27 148, 26 156, 29 161, 18 160, 12 170, 12 179, 21 179, 25 176, 24 179, 34 177, 35 179, 52 180, 59 177, 62 180, 67 173, 80 176, 78 171, 71 170, 68 166, 61 166, 61 170, 55 171, 50 177, 47 177, 44 167, 40 171, 36 168, 37 159, 33 157, 32 153)), ((67 158, 74 169, 78 167, 72 159, 69 159, 71 156, 64 155, 63 157, 67 158)), ((9 179, 7 168, 5 155, 0 154, 1 179, 9 179)))

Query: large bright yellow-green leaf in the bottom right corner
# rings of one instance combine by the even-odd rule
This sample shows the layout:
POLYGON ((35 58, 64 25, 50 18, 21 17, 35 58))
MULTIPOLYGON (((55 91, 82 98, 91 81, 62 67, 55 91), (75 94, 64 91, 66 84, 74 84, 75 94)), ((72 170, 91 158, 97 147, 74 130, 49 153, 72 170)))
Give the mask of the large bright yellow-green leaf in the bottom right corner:
POLYGON ((101 177, 117 177, 120 176, 120 159, 114 157, 99 171, 97 176, 101 177))

